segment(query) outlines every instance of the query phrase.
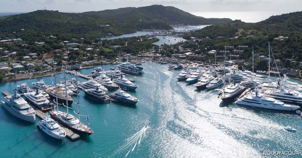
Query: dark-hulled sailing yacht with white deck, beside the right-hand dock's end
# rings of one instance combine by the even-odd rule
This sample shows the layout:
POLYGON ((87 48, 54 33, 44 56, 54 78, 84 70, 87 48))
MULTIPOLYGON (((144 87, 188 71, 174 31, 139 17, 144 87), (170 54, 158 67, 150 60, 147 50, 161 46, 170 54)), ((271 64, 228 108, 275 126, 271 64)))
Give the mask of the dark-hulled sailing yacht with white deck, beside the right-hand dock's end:
POLYGON ((245 87, 236 83, 231 83, 223 88, 223 93, 219 96, 222 101, 233 101, 236 96, 240 95, 245 87))

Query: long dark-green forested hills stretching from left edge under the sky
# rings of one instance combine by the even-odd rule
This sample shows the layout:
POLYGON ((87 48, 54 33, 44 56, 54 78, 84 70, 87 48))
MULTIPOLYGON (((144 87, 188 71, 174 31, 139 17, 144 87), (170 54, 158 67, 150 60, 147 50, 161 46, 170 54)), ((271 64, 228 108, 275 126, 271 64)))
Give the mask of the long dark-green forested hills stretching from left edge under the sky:
POLYGON ((38 10, 0 19, 0 33, 43 32, 82 36, 121 35, 142 29, 171 29, 170 24, 227 24, 230 19, 194 16, 175 7, 152 5, 140 8, 119 8, 84 13, 63 13, 38 10), (142 21, 140 21, 140 19, 142 21), (104 27, 103 25, 109 25, 104 27), (21 31, 24 29, 24 31, 21 31))

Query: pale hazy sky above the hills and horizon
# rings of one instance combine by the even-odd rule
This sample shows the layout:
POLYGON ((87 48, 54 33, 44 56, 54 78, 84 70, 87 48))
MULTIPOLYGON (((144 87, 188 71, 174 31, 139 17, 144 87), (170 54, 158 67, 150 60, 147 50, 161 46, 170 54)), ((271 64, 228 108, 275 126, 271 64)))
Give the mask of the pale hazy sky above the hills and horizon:
POLYGON ((84 12, 154 4, 198 11, 302 11, 302 0, 0 0, 0 12, 59 10, 84 12))

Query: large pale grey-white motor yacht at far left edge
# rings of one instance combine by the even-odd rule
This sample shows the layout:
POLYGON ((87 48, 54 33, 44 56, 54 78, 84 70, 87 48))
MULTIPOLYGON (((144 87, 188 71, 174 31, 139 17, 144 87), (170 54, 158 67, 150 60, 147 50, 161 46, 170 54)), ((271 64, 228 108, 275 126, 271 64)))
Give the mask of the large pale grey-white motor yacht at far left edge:
POLYGON ((35 110, 17 93, 14 89, 12 96, 5 96, 1 100, 1 105, 16 117, 29 122, 36 121, 35 110))

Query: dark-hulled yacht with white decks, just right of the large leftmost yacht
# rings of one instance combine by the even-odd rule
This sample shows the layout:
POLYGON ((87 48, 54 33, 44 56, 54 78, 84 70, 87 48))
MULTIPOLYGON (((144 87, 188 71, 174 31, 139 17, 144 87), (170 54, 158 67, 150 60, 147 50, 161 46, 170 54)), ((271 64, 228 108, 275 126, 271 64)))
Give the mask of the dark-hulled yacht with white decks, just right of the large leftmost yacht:
POLYGON ((41 111, 50 110, 55 108, 56 105, 50 103, 50 101, 38 90, 36 92, 24 93, 26 100, 37 109, 41 111))

